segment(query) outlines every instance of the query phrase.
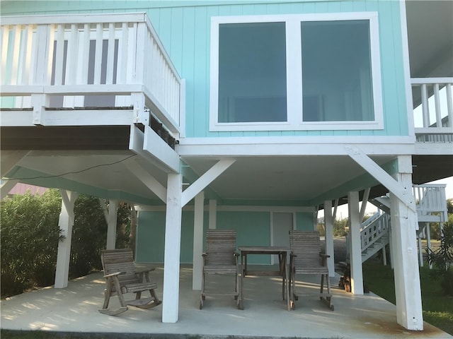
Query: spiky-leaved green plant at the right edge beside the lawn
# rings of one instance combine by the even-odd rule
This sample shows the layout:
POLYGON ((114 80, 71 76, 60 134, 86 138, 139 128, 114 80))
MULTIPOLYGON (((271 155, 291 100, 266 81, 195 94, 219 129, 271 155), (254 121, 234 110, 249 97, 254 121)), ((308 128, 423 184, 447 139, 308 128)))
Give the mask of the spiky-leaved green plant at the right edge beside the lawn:
POLYGON ((453 295, 453 224, 445 224, 440 237, 440 246, 435 251, 426 249, 428 263, 435 266, 433 277, 442 279, 442 290, 453 295))

